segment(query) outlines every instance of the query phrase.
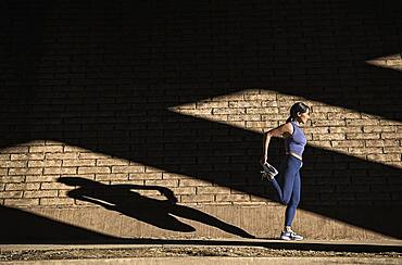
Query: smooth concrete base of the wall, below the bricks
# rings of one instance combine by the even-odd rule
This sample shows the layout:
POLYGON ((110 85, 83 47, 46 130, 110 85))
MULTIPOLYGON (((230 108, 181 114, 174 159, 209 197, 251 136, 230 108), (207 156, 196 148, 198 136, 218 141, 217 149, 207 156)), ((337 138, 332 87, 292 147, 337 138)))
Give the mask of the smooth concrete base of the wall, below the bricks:
MULTIPOLYGON (((176 211, 158 215, 153 212, 122 213, 103 207, 32 207, 13 209, 2 206, 0 243, 24 243, 70 240, 89 240, 92 243, 120 239, 239 239, 249 236, 276 239, 282 228, 282 205, 200 205, 183 206, 176 211), (137 214, 137 215, 136 215, 137 214), (181 214, 181 215, 180 215, 181 214), (166 215, 166 216, 165 216, 166 215)), ((294 230, 306 239, 316 240, 388 240, 401 239, 401 226, 376 226, 376 219, 365 216, 368 211, 361 207, 327 207, 325 211, 339 219, 298 210, 294 230), (349 219, 348 219, 349 218, 349 219)), ((400 209, 378 212, 378 218, 392 219, 389 214, 401 214, 400 209)), ((329 215, 329 214, 328 214, 329 215)), ((398 218, 397 218, 398 219, 398 218)))

